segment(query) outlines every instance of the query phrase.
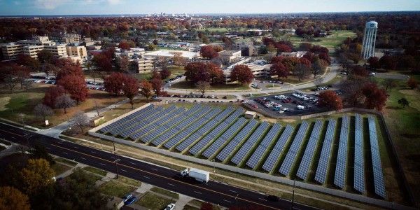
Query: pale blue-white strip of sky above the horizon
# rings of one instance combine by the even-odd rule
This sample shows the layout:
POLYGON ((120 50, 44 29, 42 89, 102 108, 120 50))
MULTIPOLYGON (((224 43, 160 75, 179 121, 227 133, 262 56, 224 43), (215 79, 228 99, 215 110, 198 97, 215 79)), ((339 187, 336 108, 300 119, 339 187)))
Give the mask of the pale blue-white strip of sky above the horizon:
POLYGON ((420 0, 0 0, 0 15, 319 13, 420 10, 420 0))

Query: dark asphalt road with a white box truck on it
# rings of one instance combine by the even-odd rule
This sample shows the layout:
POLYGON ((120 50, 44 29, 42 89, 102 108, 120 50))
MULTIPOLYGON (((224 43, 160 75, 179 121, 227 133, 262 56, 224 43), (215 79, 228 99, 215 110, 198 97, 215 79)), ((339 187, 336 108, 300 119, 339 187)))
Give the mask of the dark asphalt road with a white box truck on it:
MULTIPOLYGON (((35 132, 22 130, 0 123, 0 138, 27 146, 35 144, 44 146, 49 153, 62 158, 104 169, 108 172, 136 179, 153 186, 172 190, 176 193, 195 197, 200 200, 219 204, 223 207, 248 207, 251 209, 291 209, 289 200, 269 202, 265 200, 266 195, 235 186, 228 186, 224 183, 209 181, 209 183, 197 183, 189 179, 177 176, 179 172, 146 162, 114 155, 105 151, 99 151, 87 146, 73 144, 69 141, 55 139, 52 137, 36 134, 35 132), (119 160, 115 163, 115 160, 119 160)), ((211 176, 210 176, 211 177, 211 176)), ((314 209, 303 204, 293 204, 293 209, 314 209)))

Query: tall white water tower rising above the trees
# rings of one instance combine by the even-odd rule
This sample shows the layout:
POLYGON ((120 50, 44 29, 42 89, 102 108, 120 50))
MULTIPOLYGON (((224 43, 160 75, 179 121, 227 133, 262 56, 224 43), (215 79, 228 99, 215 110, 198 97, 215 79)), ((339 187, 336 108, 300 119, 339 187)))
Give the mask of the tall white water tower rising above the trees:
POLYGON ((368 59, 374 56, 374 45, 376 43, 376 33, 378 23, 374 21, 366 22, 365 36, 363 36, 362 57, 368 59))

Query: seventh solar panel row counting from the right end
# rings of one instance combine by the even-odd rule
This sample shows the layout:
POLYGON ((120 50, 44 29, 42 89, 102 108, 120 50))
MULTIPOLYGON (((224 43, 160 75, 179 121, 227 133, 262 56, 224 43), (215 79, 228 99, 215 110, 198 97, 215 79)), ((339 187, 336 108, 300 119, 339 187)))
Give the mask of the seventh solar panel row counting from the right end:
POLYGON ((265 169, 267 172, 271 172, 273 170, 274 164, 276 164, 277 160, 280 158, 281 151, 283 151, 283 148, 294 129, 295 128, 291 125, 286 126, 286 129, 279 137, 279 140, 277 140, 271 153, 269 153, 267 160, 265 160, 264 165, 262 165, 262 169, 265 169))

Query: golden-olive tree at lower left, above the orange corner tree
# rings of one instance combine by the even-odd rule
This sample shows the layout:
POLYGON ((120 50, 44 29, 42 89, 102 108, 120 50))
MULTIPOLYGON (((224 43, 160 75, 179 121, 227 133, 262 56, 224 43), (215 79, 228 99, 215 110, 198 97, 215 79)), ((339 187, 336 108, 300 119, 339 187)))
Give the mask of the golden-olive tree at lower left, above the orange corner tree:
POLYGON ((54 170, 45 159, 29 159, 27 166, 20 172, 22 189, 27 195, 38 193, 39 190, 54 183, 54 170))

